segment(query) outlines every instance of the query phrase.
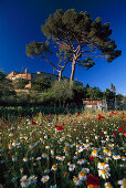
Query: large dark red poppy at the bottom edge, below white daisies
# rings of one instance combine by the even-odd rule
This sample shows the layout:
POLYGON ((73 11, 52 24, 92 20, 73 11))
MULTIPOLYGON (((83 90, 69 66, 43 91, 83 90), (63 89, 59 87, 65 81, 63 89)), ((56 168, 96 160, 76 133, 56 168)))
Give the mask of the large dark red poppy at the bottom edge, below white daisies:
POLYGON ((88 178, 86 179, 86 185, 93 185, 95 188, 98 188, 99 185, 98 177, 95 177, 92 174, 90 174, 88 178))

